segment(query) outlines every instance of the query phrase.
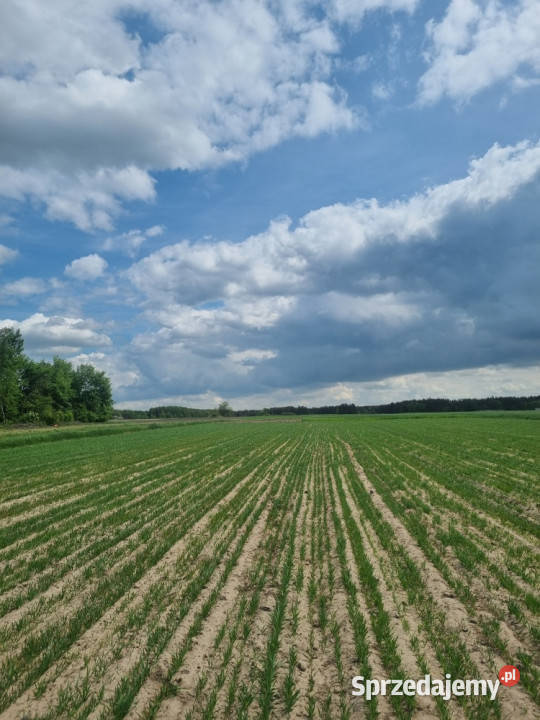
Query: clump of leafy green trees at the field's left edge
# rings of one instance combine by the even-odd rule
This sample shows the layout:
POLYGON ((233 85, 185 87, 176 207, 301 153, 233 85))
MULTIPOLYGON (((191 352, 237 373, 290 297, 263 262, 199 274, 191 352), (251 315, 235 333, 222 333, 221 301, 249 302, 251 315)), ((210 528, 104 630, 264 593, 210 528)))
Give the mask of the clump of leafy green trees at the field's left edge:
POLYGON ((24 354, 20 330, 0 328, 0 422, 104 422, 112 417, 111 383, 93 365, 24 354))

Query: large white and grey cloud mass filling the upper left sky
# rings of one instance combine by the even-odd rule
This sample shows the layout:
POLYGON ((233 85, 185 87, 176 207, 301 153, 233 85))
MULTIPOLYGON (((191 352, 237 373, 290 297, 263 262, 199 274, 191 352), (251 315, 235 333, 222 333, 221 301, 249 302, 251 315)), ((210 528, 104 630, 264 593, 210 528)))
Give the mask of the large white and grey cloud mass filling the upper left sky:
POLYGON ((107 230, 122 202, 152 200, 152 171, 216 167, 355 127, 331 76, 338 51, 332 21, 302 4, 7 0, 0 194, 107 230), (128 31, 130 15, 154 41, 128 31))

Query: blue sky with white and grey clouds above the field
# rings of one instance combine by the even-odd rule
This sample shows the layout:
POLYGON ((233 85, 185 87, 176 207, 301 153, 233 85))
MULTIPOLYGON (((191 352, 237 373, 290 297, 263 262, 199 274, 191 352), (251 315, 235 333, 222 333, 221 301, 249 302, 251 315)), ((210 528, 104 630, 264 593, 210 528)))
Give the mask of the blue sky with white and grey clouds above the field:
POLYGON ((124 408, 540 394, 540 0, 4 0, 0 327, 124 408))

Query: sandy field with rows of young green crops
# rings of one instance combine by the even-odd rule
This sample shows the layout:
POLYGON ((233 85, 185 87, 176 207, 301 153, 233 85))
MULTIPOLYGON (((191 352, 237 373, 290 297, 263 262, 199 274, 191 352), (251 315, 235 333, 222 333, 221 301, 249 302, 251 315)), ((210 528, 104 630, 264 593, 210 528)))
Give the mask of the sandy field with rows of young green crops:
POLYGON ((538 717, 539 473, 540 413, 0 434, 0 720, 538 717))

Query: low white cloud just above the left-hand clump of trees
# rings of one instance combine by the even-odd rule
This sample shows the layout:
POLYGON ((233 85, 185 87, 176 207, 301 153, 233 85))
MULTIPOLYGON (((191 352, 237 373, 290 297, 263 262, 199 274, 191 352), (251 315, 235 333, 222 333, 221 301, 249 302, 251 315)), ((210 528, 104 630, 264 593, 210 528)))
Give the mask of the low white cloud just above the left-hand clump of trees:
POLYGON ((34 313, 21 321, 0 320, 0 327, 20 330, 25 347, 44 354, 78 352, 82 347, 111 344, 110 338, 99 332, 93 321, 80 317, 34 313))

